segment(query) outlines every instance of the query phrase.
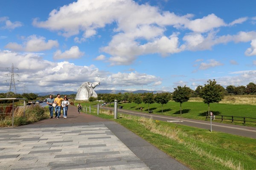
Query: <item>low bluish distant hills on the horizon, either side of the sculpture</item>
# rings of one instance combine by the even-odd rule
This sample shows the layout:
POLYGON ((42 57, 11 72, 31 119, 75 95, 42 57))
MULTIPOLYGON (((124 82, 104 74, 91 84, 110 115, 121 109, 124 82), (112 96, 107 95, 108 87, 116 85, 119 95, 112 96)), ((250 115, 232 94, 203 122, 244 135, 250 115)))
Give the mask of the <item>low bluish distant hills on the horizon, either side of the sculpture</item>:
MULTIPOLYGON (((119 90, 119 91, 116 91, 116 90, 98 90, 98 91, 95 91, 96 94, 119 94, 119 93, 134 93, 134 94, 139 94, 139 93, 153 93, 153 94, 156 94, 156 93, 163 93, 163 92, 169 92, 169 91, 146 91, 146 90, 137 90, 137 91, 125 91, 125 90, 119 90)), ((42 93, 35 93, 37 94, 38 96, 48 96, 50 94, 52 95, 57 95, 57 94, 61 94, 61 95, 64 95, 64 94, 67 94, 67 95, 70 95, 70 94, 76 94, 77 92, 76 91, 51 91, 51 92, 42 92, 42 93)))

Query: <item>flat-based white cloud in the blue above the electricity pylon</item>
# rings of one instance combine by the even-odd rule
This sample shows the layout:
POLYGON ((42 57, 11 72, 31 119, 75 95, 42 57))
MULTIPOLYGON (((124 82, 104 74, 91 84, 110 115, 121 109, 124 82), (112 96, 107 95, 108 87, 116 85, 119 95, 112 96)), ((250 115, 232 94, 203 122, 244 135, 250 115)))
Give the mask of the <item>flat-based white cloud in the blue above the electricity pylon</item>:
POLYGON ((5 48, 11 49, 13 51, 25 51, 25 52, 38 52, 50 50, 53 47, 58 47, 57 40, 48 40, 46 42, 45 37, 31 35, 26 38, 23 44, 18 44, 16 42, 9 42, 5 48))

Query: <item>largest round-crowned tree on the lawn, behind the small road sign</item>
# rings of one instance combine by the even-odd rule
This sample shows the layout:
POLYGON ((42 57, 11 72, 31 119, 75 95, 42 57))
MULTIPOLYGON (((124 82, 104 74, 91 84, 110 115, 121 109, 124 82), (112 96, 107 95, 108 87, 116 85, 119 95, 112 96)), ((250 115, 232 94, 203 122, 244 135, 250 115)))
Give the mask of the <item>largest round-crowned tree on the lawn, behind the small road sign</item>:
POLYGON ((225 89, 221 85, 217 85, 215 79, 208 80, 208 84, 204 85, 201 90, 200 97, 203 98, 205 104, 208 104, 208 116, 210 115, 210 103, 218 103, 224 98, 225 89))

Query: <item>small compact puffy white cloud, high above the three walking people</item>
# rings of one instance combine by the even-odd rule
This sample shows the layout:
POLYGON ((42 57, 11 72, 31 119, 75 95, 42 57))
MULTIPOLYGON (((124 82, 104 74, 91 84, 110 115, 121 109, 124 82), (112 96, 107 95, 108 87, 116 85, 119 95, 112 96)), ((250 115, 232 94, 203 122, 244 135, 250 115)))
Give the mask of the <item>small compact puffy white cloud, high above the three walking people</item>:
POLYGON ((78 46, 72 46, 69 50, 61 53, 61 50, 57 50, 53 54, 53 59, 76 59, 84 55, 84 52, 79 51, 78 46))

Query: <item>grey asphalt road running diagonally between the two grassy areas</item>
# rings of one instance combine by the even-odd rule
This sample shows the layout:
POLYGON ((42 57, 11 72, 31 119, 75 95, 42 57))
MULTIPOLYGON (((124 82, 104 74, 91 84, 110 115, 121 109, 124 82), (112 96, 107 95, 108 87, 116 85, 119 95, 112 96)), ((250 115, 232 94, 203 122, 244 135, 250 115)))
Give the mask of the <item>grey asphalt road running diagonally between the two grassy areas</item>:
MULTIPOLYGON (((102 107, 102 106, 100 108, 114 110, 113 108, 102 107)), ((142 113, 140 111, 129 111, 125 109, 118 109, 117 112, 136 115, 136 116, 145 116, 148 118, 151 117, 152 119, 155 119, 155 120, 161 120, 161 121, 166 121, 170 123, 177 123, 179 125, 198 127, 202 129, 208 129, 208 130, 211 129, 210 121, 178 118, 178 117, 172 117, 172 116, 163 116, 163 115, 157 115, 153 113, 142 113)), ((224 124, 224 123, 218 123, 218 122, 212 121, 212 131, 219 131, 219 132, 230 133, 233 135, 245 136, 245 137, 256 139, 256 127, 231 125, 231 124, 224 124)))

